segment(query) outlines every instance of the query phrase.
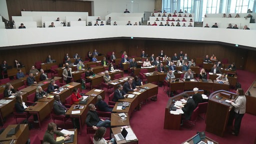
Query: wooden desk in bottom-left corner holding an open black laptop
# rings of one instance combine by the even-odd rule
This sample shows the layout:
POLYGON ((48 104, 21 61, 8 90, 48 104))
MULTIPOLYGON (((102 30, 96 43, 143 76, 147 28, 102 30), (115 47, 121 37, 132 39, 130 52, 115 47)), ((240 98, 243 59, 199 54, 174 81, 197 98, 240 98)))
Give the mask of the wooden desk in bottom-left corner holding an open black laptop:
POLYGON ((24 144, 24 143, 26 143, 26 141, 28 140, 29 135, 30 135, 30 131, 28 129, 28 124, 20 124, 18 131, 14 135, 12 135, 10 137, 6 137, 7 133, 9 132, 9 130, 11 128, 16 127, 16 126, 17 126, 17 124, 10 124, 10 125, 8 125, 3 130, 3 132, 0 134, 0 141, 6 141, 6 140, 15 139, 15 143, 17 143, 17 144, 24 144))

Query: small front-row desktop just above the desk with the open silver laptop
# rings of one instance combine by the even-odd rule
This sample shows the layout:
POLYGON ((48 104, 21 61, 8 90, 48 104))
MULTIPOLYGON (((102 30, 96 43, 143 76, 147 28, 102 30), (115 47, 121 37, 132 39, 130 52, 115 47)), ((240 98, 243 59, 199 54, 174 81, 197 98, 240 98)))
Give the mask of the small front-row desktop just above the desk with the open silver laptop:
MULTIPOLYGON (((125 113, 126 115, 128 113, 125 113)), ((124 126, 124 125, 130 125, 130 122, 129 122, 129 116, 127 115, 127 117, 125 117, 126 119, 125 120, 122 120, 122 118, 118 115, 118 112, 117 113, 111 113, 111 127, 115 127, 115 126, 124 126)))

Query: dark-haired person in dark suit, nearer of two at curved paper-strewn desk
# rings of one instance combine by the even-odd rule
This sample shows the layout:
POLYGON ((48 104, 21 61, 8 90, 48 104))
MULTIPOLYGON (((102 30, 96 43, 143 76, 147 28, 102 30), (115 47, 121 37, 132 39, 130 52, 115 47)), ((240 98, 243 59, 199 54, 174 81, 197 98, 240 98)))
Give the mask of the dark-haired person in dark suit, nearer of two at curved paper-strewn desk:
POLYGON ((189 98, 187 94, 183 94, 182 97, 186 100, 186 104, 181 108, 184 112, 183 116, 185 120, 189 120, 195 108, 195 103, 193 98, 189 98))

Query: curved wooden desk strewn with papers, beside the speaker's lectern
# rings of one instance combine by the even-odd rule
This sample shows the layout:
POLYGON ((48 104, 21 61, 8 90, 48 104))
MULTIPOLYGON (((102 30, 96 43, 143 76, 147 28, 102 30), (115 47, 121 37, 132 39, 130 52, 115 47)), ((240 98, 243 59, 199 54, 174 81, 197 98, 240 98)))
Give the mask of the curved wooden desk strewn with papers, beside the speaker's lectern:
MULTIPOLYGON (((179 93, 171 98, 169 98, 164 112, 164 129, 174 129, 179 130, 180 129, 180 121, 181 121, 181 114, 170 114, 170 107, 176 100, 182 99, 182 95, 187 93, 188 95, 194 94, 194 91, 184 91, 182 93, 179 93)), ((203 94, 203 90, 198 90, 198 93, 203 94)))

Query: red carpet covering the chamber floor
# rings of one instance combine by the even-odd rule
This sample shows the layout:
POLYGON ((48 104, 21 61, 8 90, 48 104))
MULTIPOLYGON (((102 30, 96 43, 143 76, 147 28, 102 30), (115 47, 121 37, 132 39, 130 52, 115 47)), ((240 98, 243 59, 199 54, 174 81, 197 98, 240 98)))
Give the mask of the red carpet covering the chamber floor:
MULTIPOLYGON (((126 75, 126 74, 125 74, 126 75)), ((246 91, 250 84, 255 80, 256 75, 252 72, 247 72, 244 70, 237 70, 238 81, 241 83, 241 87, 246 91), (243 75, 243 76, 242 76, 243 75), (246 76, 244 76, 246 75, 246 76), (242 76, 242 78, 241 78, 242 76)), ((88 91, 86 89, 86 91, 88 91)), ((106 91, 106 89, 105 89, 106 91)), ((231 89, 234 92, 233 89, 231 89)), ((105 93, 108 97, 108 93, 105 93)), ((135 132, 140 144, 150 144, 150 143, 181 143, 189 137, 193 136, 196 131, 204 131, 205 123, 204 120, 198 118, 196 125, 192 128, 182 127, 181 130, 168 130, 163 129, 163 118, 164 118, 164 108, 168 100, 167 94, 163 91, 163 87, 158 88, 158 100, 151 101, 148 100, 146 104, 141 105, 139 111, 133 111, 130 118, 130 125, 135 132)), ((106 98, 108 101, 108 98, 106 98)), ((33 128, 30 130, 30 138, 35 134, 42 139, 43 134, 47 128, 48 122, 51 122, 51 118, 47 118, 42 121, 42 128, 39 130, 33 128)), ((255 139, 255 126, 256 116, 251 114, 244 114, 242 119, 240 133, 238 136, 233 136, 231 134, 231 127, 226 129, 223 137, 216 136, 212 133, 205 132, 206 136, 214 139, 219 143, 253 143, 255 139)), ((171 122, 171 121, 170 121, 171 122)), ((15 119, 13 115, 6 118, 3 127, 8 124, 15 124, 15 119)), ((56 120, 57 124, 61 122, 56 120)), ((67 124, 71 128, 71 124, 67 124)), ((35 125, 36 127, 36 125, 35 125)), ((68 128, 67 127, 67 128, 68 128)), ((88 143, 88 136, 86 135, 86 127, 83 126, 82 132, 78 135, 78 143, 88 143)), ((37 144, 37 143, 36 143, 37 144)))

